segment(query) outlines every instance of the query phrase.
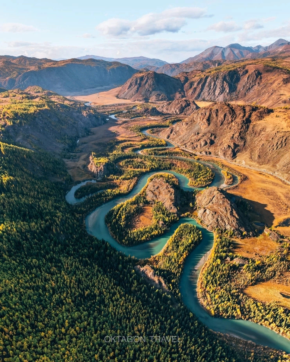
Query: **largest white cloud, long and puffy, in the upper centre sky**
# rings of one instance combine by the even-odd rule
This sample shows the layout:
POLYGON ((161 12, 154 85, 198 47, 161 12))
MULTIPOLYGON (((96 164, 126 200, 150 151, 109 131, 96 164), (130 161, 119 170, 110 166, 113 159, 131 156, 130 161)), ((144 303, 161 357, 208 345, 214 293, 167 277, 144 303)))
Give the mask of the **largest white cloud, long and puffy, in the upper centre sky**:
POLYGON ((153 35, 163 31, 177 33, 186 24, 186 19, 210 17, 206 9, 177 7, 161 13, 148 13, 134 21, 112 18, 96 26, 104 35, 124 36, 138 34, 153 35))

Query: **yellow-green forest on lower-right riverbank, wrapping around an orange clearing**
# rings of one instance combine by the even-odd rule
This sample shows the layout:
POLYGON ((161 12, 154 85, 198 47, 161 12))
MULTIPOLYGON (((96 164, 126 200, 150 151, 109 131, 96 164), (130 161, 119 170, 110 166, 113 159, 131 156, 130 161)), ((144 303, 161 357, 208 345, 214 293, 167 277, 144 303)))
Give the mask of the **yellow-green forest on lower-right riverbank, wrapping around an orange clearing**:
POLYGON ((287 308, 274 302, 259 302, 243 292, 248 285, 272 280, 290 270, 287 260, 290 244, 281 242, 269 255, 245 259, 234 252, 231 239, 220 230, 216 232, 213 252, 199 278, 198 292, 205 308, 211 315, 251 320, 290 338, 287 308), (232 262, 227 262, 227 258, 232 262), (245 262, 240 264, 235 258, 245 262))

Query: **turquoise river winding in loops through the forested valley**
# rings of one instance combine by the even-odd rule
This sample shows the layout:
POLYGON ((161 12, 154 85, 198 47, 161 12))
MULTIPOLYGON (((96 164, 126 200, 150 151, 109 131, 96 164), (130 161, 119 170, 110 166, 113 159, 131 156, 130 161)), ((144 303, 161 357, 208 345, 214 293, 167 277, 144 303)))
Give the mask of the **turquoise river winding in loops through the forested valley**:
MULTIPOLYGON (((113 118, 112 116, 110 117, 113 118)), ((143 133, 149 135, 146 131, 143 131, 143 133)), ((167 142, 167 147, 174 146, 167 142)), ((183 159, 184 157, 176 158, 183 159)), ((220 172, 221 169, 217 167, 217 165, 210 162, 201 163, 210 167, 215 174, 214 181, 212 182, 211 186, 221 186, 224 182, 224 177, 220 172)), ((276 332, 270 330, 269 328, 266 328, 257 323, 240 319, 224 319, 212 317, 199 304, 196 292, 197 280, 202 265, 206 261, 206 258, 209 255, 209 251, 213 247, 214 235, 212 232, 207 231, 204 227, 199 225, 196 220, 186 217, 180 218, 180 220, 177 223, 173 224, 170 227, 169 231, 164 233, 162 236, 156 237, 155 239, 132 247, 125 247, 123 245, 120 245, 110 235, 108 227, 105 223, 105 215, 109 212, 109 210, 112 209, 112 207, 114 207, 115 205, 118 205, 119 203, 124 202, 132 198, 134 195, 138 194, 140 190, 146 185, 149 177, 161 172, 152 171, 143 174, 134 189, 129 194, 106 202, 103 205, 97 207, 93 212, 91 212, 91 214, 89 214, 85 220, 88 233, 97 237, 98 239, 104 239, 108 241, 110 245, 112 245, 112 247, 114 247, 117 251, 123 252, 126 255, 135 256, 136 258, 140 259, 148 258, 152 255, 159 253, 163 249, 164 245, 167 243, 169 237, 173 235, 173 233, 180 224, 190 223, 197 226, 202 232, 202 241, 186 258, 179 283, 179 289, 184 304, 198 317, 199 320, 201 320, 205 325, 207 325, 207 327, 209 327, 213 331, 228 333, 232 336, 243 338, 244 340, 253 341, 264 346, 269 346, 271 348, 280 349, 285 351, 286 353, 290 353, 290 341, 287 338, 282 337, 280 334, 277 334, 276 332)), ((192 187, 188 186, 189 180, 187 177, 173 171, 163 172, 175 175, 178 178, 180 186, 184 190, 188 191, 193 189, 192 187)), ((237 184, 238 178, 235 175, 233 176, 234 184, 237 184)), ((76 186, 73 186, 73 188, 66 195, 66 200, 68 203, 74 204, 77 202, 81 202, 86 198, 84 197, 82 199, 76 199, 74 197, 74 193, 75 190, 77 190, 87 182, 95 181, 84 181, 76 186)))

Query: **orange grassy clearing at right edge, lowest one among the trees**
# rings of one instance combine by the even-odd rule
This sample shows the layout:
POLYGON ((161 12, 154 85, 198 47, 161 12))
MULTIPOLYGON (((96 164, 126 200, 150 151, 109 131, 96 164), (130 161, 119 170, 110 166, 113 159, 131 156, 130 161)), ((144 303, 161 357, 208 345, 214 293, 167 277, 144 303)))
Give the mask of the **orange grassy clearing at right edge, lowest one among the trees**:
POLYGON ((249 297, 260 302, 278 302, 281 306, 290 308, 290 286, 277 282, 263 282, 251 285, 244 290, 249 297))

